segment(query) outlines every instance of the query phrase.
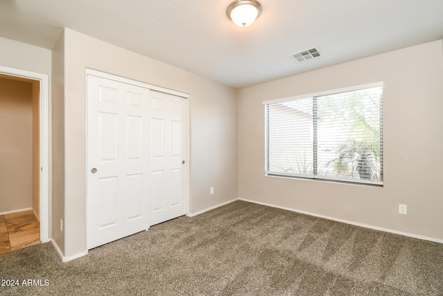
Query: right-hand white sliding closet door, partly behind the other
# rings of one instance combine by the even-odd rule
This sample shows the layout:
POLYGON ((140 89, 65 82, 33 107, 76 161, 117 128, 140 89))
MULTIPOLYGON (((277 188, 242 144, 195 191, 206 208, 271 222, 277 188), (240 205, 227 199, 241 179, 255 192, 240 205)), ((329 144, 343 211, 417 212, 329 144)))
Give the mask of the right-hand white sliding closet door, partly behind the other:
POLYGON ((151 91, 150 225, 186 214, 186 98, 151 91))

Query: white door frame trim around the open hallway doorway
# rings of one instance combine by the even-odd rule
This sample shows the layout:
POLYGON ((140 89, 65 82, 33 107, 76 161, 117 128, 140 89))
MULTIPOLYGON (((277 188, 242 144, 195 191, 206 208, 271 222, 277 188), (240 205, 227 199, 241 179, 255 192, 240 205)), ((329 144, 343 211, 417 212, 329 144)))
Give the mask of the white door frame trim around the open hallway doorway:
POLYGON ((0 66, 0 73, 39 81, 39 218, 40 241, 49 238, 49 79, 47 74, 0 66))

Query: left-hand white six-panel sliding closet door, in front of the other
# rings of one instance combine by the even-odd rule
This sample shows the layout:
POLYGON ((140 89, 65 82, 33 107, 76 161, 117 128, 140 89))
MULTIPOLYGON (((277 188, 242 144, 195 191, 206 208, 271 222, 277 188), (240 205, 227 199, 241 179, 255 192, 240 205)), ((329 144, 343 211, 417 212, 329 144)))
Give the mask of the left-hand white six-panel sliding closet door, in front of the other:
POLYGON ((91 249, 150 227, 150 90, 88 75, 87 102, 91 249))

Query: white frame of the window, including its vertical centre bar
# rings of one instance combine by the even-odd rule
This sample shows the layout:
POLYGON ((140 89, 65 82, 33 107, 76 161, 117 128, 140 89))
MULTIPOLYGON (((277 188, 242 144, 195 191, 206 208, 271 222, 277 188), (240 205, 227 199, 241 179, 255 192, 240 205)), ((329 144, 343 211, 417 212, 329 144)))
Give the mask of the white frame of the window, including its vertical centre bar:
MULTIPOLYGON (((293 178, 293 179, 300 179, 300 180, 319 180, 319 181, 326 181, 326 182, 339 182, 339 183, 347 183, 347 184, 363 184, 363 185, 368 185, 368 186, 383 186, 384 180, 383 180, 383 82, 373 82, 373 83, 368 83, 368 84, 364 84, 364 85, 355 85, 352 87, 343 87, 340 89, 330 89, 327 91, 323 91, 323 92, 316 92, 316 93, 311 93, 311 94, 303 94, 303 95, 298 95, 298 96, 290 96, 290 97, 286 97, 286 98, 277 98, 277 99, 273 99, 273 100, 269 100, 269 101, 264 101, 263 105, 264 105, 264 171, 265 171, 265 175, 269 176, 269 177, 287 177, 287 178, 293 178), (381 87, 381 102, 379 105, 379 111, 380 111, 380 158, 379 158, 379 163, 380 163, 380 173, 379 173, 379 180, 374 181, 374 180, 359 180, 359 179, 347 179, 347 178, 342 178, 342 177, 334 177, 334 176, 323 176, 323 175, 317 175, 316 173, 316 166, 318 165, 316 162, 317 161, 317 155, 316 155, 316 148, 318 148, 315 145, 315 141, 316 141, 316 137, 315 137, 315 133, 316 128, 315 128, 315 122, 314 123, 314 128, 313 128, 313 132, 314 132, 314 137, 313 137, 313 173, 312 175, 302 175, 302 174, 297 174, 297 173, 275 173, 275 172, 270 172, 269 168, 270 168, 270 159, 269 159, 269 125, 268 125, 268 116, 269 116, 269 108, 268 105, 270 104, 275 104, 275 103, 285 103, 285 102, 289 102, 289 101, 295 101, 298 99, 306 99, 306 98, 312 98, 313 99, 313 105, 316 105, 316 98, 319 96, 328 96, 328 95, 334 95, 334 94, 340 94, 340 93, 344 93, 344 92, 354 92, 354 91, 358 91, 358 90, 363 90, 363 89, 370 89, 372 87, 381 87)), ((314 107, 313 108, 313 112, 316 112, 317 108, 314 107)), ((316 114, 313 113, 313 116, 316 116, 316 114)))

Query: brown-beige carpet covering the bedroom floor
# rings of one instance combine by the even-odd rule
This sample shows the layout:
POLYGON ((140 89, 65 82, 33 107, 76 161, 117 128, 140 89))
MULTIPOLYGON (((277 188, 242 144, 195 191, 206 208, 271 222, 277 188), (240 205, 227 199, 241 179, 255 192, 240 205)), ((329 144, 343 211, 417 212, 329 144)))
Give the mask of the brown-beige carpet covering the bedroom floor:
POLYGON ((443 245, 237 201, 68 263, 51 243, 1 254, 0 277, 42 284, 0 295, 430 296, 443 245))

